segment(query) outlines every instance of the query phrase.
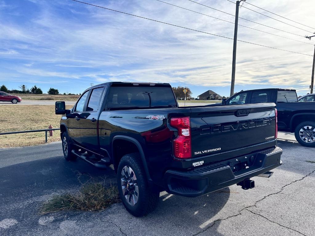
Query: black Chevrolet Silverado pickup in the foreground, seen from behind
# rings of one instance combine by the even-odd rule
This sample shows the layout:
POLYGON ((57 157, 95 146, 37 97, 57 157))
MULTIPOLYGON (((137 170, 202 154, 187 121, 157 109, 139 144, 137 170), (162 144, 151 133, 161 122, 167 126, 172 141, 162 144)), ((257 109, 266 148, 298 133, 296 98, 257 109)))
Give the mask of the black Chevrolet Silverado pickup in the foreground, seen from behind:
POLYGON ((275 104, 179 107, 168 83, 108 82, 85 90, 71 110, 56 102, 66 160, 113 165, 134 216, 161 191, 197 197, 232 184, 254 187, 282 164, 275 104))

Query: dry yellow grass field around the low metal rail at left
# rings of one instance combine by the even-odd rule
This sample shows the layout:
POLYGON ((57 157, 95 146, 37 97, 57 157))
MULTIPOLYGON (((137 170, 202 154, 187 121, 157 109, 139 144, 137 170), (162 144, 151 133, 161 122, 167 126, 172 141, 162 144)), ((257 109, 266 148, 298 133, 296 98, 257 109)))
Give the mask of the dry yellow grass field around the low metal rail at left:
MULTIPOLYGON (((67 107, 68 109, 71 106, 67 107)), ((0 133, 23 130, 48 129, 51 124, 59 128, 61 115, 55 115, 51 105, 0 106, 0 133)), ((59 141, 60 131, 48 137, 48 142, 59 141)), ((45 143, 45 132, 0 135, 0 148, 22 147, 45 143)))

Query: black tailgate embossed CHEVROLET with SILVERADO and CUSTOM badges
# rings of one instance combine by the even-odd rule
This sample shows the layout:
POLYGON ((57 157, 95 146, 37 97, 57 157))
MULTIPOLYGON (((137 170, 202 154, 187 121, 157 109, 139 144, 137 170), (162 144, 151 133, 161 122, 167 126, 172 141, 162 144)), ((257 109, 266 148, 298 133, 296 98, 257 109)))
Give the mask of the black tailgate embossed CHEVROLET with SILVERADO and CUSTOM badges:
POLYGON ((193 162, 218 162, 249 154, 253 147, 275 146, 274 103, 191 108, 190 121, 193 162))

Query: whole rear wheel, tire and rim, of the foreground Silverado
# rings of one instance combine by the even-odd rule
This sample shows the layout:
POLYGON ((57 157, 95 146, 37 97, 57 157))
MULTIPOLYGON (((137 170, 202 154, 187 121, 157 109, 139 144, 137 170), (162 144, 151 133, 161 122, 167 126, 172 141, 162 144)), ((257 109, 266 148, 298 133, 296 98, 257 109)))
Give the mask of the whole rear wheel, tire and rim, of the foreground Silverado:
POLYGON ((122 157, 117 168, 117 185, 123 205, 134 216, 144 216, 158 204, 160 192, 149 188, 139 153, 122 157))

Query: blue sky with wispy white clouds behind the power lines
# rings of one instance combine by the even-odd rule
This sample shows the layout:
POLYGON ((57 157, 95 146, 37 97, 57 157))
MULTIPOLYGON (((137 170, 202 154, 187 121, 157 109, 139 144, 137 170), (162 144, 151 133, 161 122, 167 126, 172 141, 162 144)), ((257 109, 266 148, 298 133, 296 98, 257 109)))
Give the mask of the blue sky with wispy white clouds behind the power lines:
MULTIPOLYGON (((233 38, 234 24, 157 0, 85 0, 102 7, 233 38)), ((234 22, 234 17, 188 0, 163 0, 234 22)), ((195 0, 235 14, 226 0, 195 0)), ((261 8, 315 28, 315 1, 247 0, 261 8)), ((315 29, 296 24, 247 3, 245 7, 295 25, 286 25, 246 8, 240 25, 307 42, 296 42, 238 26, 238 39, 313 55, 315 41, 303 36, 315 29), (306 31, 305 31, 306 30, 306 31), (307 32, 309 31, 309 32, 307 32)), ((315 39, 315 37, 314 37, 315 39)), ((0 84, 18 89, 33 85, 47 93, 82 93, 90 83, 108 81, 167 82, 192 90, 211 89, 229 96, 233 40, 89 6, 71 0, 0 0, 0 84)), ((313 57, 237 43, 235 92, 247 89, 294 88, 309 92, 313 57)))

